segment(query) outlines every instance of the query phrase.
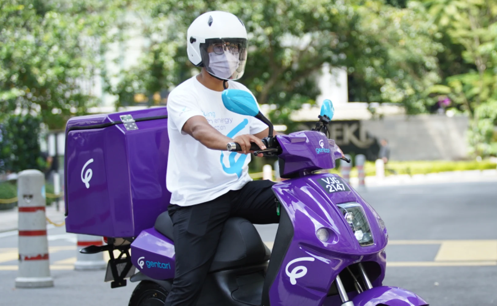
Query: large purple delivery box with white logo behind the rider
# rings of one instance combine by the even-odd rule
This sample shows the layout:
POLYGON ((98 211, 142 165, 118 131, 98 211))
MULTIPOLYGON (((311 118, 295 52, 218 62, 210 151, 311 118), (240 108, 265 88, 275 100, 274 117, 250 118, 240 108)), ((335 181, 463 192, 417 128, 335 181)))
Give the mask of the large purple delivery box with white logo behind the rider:
POLYGON ((81 116, 66 126, 66 230, 136 237, 166 211, 167 110, 81 116))

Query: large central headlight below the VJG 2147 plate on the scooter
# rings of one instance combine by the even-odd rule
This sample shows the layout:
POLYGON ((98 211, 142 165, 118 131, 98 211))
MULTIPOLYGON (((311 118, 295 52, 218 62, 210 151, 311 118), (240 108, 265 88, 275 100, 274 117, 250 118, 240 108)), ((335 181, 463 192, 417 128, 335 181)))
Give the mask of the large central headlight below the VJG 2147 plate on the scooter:
POLYGON ((345 221, 350 226, 359 245, 372 245, 373 236, 371 235, 371 227, 369 226, 368 219, 364 214, 362 206, 356 202, 342 203, 337 204, 336 206, 338 206, 342 212, 345 221))

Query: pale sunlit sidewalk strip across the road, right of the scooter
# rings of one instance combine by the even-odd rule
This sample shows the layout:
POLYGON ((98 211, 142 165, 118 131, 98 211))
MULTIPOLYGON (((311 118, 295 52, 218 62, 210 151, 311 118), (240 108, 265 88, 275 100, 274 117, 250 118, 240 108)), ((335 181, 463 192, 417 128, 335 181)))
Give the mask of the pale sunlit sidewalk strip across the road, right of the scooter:
MULTIPOLYGON (((464 183, 464 182, 497 182, 497 169, 451 171, 429 174, 390 175, 383 179, 375 176, 366 177, 366 187, 375 186, 398 186, 398 185, 420 185, 437 183, 464 183)), ((356 187, 359 184, 357 177, 350 178, 350 184, 356 187)))

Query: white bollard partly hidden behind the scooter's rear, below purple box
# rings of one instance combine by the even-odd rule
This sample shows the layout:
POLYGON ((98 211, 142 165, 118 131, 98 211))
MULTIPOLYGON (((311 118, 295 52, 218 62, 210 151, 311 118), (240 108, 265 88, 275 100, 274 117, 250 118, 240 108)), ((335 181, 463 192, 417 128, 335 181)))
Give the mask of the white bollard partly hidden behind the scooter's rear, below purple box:
POLYGON ((80 249, 90 245, 102 245, 102 237, 78 234, 77 256, 74 269, 77 271, 102 270, 107 267, 103 260, 103 252, 95 254, 82 254, 80 249))

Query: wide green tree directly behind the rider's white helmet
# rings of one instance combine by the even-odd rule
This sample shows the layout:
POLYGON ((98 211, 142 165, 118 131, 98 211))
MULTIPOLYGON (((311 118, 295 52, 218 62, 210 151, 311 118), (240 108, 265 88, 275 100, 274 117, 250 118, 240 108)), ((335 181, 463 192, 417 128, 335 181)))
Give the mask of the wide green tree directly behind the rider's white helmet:
POLYGON ((425 90, 438 82, 441 47, 431 40, 436 28, 423 9, 381 0, 147 1, 133 12, 147 16, 140 24, 150 43, 140 64, 120 75, 110 92, 126 105, 136 93, 170 90, 198 73, 186 57, 186 29, 201 13, 224 10, 247 27, 241 82, 260 104, 274 105, 273 122, 291 125, 293 110, 315 103, 324 63, 348 67, 352 101, 395 102, 411 113, 424 112, 425 90))

